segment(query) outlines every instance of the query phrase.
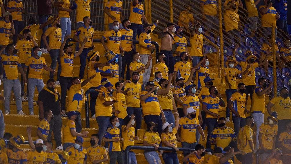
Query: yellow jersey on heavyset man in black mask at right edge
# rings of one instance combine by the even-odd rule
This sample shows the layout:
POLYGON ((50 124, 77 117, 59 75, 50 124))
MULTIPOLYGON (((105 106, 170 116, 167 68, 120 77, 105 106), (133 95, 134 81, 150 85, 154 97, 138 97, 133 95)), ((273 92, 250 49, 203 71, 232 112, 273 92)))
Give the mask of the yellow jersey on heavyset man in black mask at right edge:
POLYGON ((274 97, 270 103, 274 104, 274 111, 278 113, 278 120, 291 119, 291 100, 289 97, 274 97))

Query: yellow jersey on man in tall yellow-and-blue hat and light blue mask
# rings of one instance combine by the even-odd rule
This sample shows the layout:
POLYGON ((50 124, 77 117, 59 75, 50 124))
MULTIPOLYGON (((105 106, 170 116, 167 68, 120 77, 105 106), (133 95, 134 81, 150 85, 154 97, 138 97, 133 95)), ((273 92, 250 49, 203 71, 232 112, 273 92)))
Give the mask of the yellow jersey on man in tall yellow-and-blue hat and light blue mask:
POLYGON ((119 82, 119 69, 118 69, 118 64, 111 64, 110 66, 104 66, 100 68, 100 72, 103 73, 113 73, 115 76, 106 76, 106 78, 111 82, 111 84, 113 85, 113 89, 115 88, 115 84, 117 82, 119 82))

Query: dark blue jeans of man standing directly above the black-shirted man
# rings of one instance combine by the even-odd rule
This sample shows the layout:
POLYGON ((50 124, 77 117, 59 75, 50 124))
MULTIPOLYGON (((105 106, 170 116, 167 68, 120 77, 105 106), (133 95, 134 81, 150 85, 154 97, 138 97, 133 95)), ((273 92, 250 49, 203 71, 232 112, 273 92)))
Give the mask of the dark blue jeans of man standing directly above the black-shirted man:
MULTIPOLYGON (((59 81, 60 75, 61 75, 60 50, 59 49, 51 49, 49 51, 49 56, 51 56, 51 59, 52 59, 52 64, 51 64, 52 69, 54 69, 54 70, 56 69, 56 63, 58 62, 58 74, 57 74, 56 81, 59 81)), ((54 78, 54 74, 52 72, 49 73, 49 78, 50 79, 54 78)))

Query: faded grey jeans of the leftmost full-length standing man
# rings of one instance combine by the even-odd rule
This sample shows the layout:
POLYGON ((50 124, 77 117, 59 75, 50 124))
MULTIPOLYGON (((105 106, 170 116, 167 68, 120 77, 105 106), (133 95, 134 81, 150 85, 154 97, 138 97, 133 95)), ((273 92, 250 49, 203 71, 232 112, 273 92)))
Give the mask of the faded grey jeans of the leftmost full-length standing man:
POLYGON ((19 79, 9 80, 3 78, 3 88, 4 88, 4 109, 10 112, 10 96, 11 91, 13 90, 17 112, 22 110, 22 101, 21 101, 21 85, 19 79))

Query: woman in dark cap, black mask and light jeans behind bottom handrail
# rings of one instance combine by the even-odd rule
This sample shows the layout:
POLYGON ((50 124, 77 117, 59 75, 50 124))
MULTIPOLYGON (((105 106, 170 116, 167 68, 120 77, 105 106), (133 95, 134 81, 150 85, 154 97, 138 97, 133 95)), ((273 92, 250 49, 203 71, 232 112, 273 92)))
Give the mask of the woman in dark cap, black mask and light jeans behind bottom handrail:
MULTIPOLYGON (((147 131, 143 135, 143 146, 152 146, 155 150, 159 148, 161 138, 157 132, 157 125, 154 122, 147 123, 147 131)), ((145 150, 143 155, 149 164, 162 164, 157 151, 145 150)))

